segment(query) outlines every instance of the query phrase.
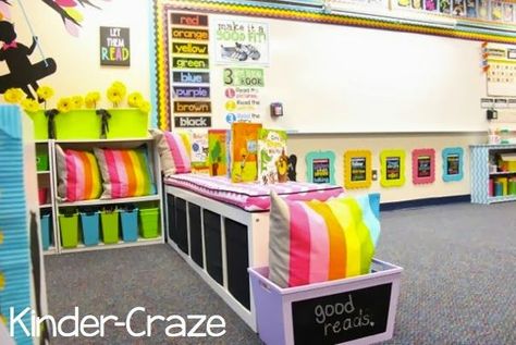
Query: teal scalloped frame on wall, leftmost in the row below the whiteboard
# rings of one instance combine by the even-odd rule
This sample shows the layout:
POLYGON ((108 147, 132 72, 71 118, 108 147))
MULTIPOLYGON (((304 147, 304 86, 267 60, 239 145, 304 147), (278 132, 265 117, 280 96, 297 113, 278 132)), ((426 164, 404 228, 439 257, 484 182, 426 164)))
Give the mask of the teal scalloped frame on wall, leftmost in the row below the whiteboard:
POLYGON ((335 184, 335 153, 333 151, 311 151, 306 155, 305 160, 308 182, 335 184))

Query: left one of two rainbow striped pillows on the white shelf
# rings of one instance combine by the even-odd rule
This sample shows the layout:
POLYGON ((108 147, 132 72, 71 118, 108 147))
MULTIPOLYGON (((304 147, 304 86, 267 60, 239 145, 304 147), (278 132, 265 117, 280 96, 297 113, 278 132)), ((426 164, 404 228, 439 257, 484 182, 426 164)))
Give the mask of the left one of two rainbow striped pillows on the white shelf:
POLYGON ((58 195, 67 201, 100 197, 102 185, 94 153, 63 149, 56 145, 58 163, 58 195))

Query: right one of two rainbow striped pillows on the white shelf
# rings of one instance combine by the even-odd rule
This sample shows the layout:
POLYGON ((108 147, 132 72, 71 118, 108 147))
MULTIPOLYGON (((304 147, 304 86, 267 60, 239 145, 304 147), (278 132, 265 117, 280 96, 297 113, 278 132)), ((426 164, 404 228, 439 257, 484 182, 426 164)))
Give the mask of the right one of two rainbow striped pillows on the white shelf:
POLYGON ((95 156, 103 180, 101 198, 115 199, 156 194, 147 149, 99 149, 95 156))

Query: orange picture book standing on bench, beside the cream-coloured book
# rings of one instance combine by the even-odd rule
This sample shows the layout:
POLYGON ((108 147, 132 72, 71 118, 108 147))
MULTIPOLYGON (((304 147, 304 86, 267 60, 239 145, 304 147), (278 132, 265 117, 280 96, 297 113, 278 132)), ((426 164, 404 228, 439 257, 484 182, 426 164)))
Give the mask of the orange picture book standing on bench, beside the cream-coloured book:
POLYGON ((258 131, 261 123, 236 122, 231 126, 231 181, 254 182, 258 178, 258 131))

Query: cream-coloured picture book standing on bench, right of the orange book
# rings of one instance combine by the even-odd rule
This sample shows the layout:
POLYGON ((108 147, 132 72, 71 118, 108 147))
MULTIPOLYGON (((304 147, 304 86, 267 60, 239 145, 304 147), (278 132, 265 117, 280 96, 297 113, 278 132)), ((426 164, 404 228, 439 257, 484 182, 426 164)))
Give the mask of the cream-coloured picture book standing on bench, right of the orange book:
POLYGON ((287 181, 286 132, 261 128, 258 134, 258 176, 263 184, 287 181))

